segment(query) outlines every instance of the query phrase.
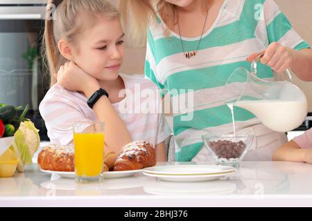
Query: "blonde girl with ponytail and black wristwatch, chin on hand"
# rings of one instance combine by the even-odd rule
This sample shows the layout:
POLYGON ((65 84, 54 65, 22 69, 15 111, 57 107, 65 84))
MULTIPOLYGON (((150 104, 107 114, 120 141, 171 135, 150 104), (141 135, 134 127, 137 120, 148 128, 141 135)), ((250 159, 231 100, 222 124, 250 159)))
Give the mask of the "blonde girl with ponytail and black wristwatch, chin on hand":
POLYGON ((55 20, 46 19, 44 37, 51 88, 40 113, 51 142, 72 143, 72 122, 101 121, 105 150, 118 153, 132 140, 146 140, 155 145, 157 160, 165 161, 170 128, 157 112, 157 87, 143 77, 119 74, 124 54, 119 12, 103 0, 50 3, 56 7, 55 20), (101 95, 91 104, 99 88, 101 95), (153 108, 144 112, 143 103, 153 108))

